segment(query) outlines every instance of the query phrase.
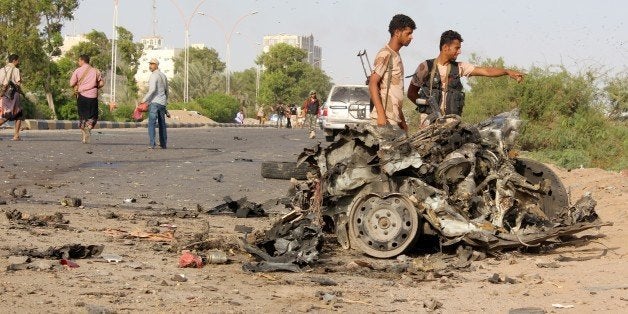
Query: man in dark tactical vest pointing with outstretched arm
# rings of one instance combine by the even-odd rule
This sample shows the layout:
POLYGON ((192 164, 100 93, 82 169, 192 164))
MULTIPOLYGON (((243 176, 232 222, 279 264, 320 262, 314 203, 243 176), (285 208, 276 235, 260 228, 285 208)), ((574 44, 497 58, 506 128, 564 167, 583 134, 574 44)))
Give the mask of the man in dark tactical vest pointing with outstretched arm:
POLYGON ((523 73, 514 70, 477 67, 470 63, 457 62, 461 45, 462 36, 458 32, 445 31, 440 36, 438 57, 419 64, 410 81, 408 98, 418 106, 421 128, 428 126, 437 116, 462 115, 464 92, 460 78, 463 76, 508 75, 517 83, 523 80, 523 73), (435 113, 437 108, 440 112, 435 113))

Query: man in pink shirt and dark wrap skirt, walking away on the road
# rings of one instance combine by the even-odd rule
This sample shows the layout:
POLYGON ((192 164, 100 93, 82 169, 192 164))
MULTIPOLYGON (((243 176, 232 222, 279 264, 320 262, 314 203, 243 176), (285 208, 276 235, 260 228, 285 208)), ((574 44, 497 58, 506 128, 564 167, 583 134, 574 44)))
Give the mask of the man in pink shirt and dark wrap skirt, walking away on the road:
POLYGON ((89 65, 89 56, 80 55, 78 68, 72 73, 70 86, 74 88, 83 144, 89 143, 92 129, 98 122, 98 89, 105 86, 100 71, 89 65))

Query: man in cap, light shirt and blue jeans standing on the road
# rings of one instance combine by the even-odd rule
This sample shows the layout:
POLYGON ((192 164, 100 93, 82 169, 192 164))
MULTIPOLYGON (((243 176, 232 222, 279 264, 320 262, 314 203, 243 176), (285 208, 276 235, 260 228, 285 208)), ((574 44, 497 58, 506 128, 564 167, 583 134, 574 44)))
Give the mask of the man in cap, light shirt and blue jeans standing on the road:
POLYGON ((155 122, 159 126, 159 146, 166 149, 168 135, 166 134, 166 105, 168 104, 168 78, 159 71, 159 61, 155 58, 148 62, 151 71, 148 79, 148 92, 142 99, 148 103, 148 139, 149 148, 155 148, 155 122))

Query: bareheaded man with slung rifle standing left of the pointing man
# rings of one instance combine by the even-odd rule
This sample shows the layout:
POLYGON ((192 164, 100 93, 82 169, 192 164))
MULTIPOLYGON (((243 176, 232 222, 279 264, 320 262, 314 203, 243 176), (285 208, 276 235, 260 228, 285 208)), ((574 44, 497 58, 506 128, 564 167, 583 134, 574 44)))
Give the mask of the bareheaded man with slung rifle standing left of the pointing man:
POLYGON ((412 41, 416 29, 414 21, 403 14, 393 16, 388 26, 390 40, 375 56, 373 73, 369 79, 369 91, 373 100, 371 123, 377 126, 397 126, 408 133, 408 125, 401 110, 403 104, 403 62, 399 56, 401 47, 412 41))

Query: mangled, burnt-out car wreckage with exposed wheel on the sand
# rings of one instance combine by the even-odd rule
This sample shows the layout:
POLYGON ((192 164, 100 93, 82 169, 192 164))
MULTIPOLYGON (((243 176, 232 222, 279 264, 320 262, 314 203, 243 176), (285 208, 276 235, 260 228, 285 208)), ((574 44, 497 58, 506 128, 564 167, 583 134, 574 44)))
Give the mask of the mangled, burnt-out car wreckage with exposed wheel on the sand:
POLYGON ((609 225, 590 196, 570 206, 551 169, 509 155, 519 125, 515 110, 478 125, 446 116, 409 137, 347 128, 299 156, 318 173, 296 183, 292 206, 318 214, 344 248, 378 258, 401 254, 423 234, 497 252, 609 225))

